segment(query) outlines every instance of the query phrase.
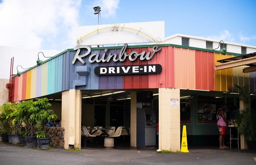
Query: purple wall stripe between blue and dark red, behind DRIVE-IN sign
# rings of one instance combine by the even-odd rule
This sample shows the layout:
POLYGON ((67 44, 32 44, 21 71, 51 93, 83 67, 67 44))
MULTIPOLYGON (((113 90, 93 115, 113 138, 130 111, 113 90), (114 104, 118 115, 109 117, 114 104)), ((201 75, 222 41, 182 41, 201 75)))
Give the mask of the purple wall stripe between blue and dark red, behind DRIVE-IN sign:
MULTIPOLYGON (((119 55, 121 49, 110 49, 106 54, 117 53, 119 55)), ((100 50, 100 58, 104 53, 104 50, 100 50)), ((122 62, 114 62, 113 58, 108 63, 100 63, 100 66, 120 66, 123 65, 122 62)), ((93 71, 94 72, 94 71, 93 71)), ((123 76, 100 76, 99 77, 99 89, 123 89, 123 76)))

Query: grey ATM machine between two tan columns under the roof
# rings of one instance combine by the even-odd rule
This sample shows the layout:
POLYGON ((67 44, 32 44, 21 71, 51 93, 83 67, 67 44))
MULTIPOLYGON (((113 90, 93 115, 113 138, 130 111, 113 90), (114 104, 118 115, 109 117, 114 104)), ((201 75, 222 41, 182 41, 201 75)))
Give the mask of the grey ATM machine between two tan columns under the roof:
POLYGON ((153 92, 137 94, 137 147, 156 145, 156 116, 152 102, 153 92))

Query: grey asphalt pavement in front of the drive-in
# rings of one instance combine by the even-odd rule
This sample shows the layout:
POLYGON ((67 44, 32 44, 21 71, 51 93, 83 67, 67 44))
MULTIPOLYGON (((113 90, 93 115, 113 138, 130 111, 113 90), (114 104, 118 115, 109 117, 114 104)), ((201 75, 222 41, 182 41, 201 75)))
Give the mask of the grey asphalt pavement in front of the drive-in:
POLYGON ((188 153, 156 153, 156 148, 82 147, 80 151, 63 148, 38 150, 0 143, 0 164, 4 165, 256 165, 256 150, 189 148, 188 153))

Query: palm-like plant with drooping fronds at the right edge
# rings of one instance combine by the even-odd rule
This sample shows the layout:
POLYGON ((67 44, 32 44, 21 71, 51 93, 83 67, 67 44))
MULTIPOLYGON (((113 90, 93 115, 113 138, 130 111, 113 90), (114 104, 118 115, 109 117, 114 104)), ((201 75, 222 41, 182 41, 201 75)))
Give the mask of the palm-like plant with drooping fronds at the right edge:
POLYGON ((228 90, 232 93, 229 96, 232 95, 244 102, 244 108, 240 108, 236 113, 238 133, 244 136, 247 142, 256 142, 256 94, 251 93, 249 85, 228 86, 228 90))

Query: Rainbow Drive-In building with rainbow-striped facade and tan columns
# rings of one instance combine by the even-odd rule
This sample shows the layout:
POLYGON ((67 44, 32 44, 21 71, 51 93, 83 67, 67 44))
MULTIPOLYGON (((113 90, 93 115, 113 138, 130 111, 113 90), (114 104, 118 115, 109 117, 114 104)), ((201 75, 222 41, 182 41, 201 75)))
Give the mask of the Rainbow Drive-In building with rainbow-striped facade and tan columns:
MULTIPOLYGON (((222 103, 240 106, 239 100, 225 96, 227 87, 256 88, 255 72, 243 72, 253 61, 238 64, 255 60, 255 46, 225 42, 223 55, 224 42, 180 34, 164 39, 163 21, 79 27, 77 36, 74 48, 13 76, 9 96, 10 102, 49 98, 65 128, 66 149, 81 147, 81 123, 124 126, 129 146, 147 147, 138 143, 143 93, 150 95, 145 105, 154 110, 154 130, 159 124, 159 137, 156 131, 150 135, 153 146, 181 150, 183 125, 188 146, 218 146, 218 108, 222 103), (220 63, 242 55, 247 56, 220 63)), ((146 128, 142 131, 147 134, 146 128)), ((241 148, 246 148, 243 138, 241 148)))

